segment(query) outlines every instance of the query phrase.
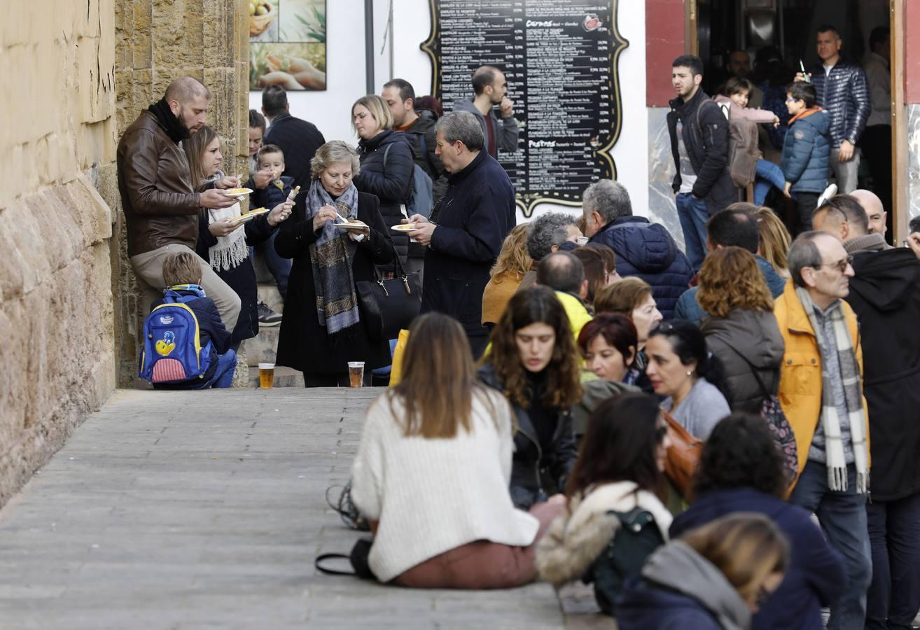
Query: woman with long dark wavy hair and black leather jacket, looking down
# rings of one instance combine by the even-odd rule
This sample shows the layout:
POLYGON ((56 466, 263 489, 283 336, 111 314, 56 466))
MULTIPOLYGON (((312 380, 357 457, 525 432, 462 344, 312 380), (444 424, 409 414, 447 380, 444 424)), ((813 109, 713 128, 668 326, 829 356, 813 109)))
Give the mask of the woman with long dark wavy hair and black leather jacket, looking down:
POLYGON ((581 400, 581 359, 565 309, 542 286, 514 294, 491 344, 479 380, 514 409, 512 501, 527 510, 561 492, 575 464, 571 407, 581 400))

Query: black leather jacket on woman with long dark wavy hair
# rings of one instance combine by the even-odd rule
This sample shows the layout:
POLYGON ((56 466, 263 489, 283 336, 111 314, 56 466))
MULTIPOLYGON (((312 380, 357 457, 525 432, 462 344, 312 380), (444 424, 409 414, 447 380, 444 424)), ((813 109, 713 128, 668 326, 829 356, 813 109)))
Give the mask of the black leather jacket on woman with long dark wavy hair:
MULTIPOLYGON (((504 394, 504 386, 491 363, 479 368, 479 380, 504 394)), ((532 505, 545 501, 558 492, 564 492, 578 449, 572 432, 570 409, 559 410, 552 449, 540 446, 536 428, 527 410, 512 405, 518 430, 514 433, 512 457, 511 495, 514 507, 529 510, 532 505)))

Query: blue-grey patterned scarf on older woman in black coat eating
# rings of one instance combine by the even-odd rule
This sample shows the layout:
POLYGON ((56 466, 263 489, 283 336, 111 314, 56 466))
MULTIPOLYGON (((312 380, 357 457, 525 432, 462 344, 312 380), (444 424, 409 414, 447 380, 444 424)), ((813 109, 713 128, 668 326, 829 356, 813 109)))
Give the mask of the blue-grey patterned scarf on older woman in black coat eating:
MULTIPOLYGON (((314 179, 306 193, 306 220, 312 222, 319 209, 325 205, 335 207, 339 214, 351 221, 358 218, 358 189, 352 184, 339 199, 333 200, 326 189, 314 179)), ((358 317, 358 297, 355 295, 351 261, 357 245, 329 221, 310 246, 313 283, 316 286, 316 316, 319 325, 326 326, 327 334, 354 326, 358 317)))

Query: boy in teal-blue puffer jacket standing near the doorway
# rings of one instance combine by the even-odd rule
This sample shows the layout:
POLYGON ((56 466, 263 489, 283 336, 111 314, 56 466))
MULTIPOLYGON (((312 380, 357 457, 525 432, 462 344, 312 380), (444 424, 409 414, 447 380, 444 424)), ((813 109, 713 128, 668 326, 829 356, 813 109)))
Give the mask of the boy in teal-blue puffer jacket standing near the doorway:
POLYGON ((786 192, 799 209, 799 231, 811 230, 811 214, 827 188, 831 169, 831 117, 816 107, 818 93, 810 83, 786 86, 789 130, 779 167, 786 177, 786 192))

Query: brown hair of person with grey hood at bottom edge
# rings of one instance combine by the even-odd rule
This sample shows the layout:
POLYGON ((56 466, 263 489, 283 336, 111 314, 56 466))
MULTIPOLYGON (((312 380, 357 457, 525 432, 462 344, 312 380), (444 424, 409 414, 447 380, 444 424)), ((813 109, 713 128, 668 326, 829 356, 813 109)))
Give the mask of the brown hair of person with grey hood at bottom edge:
POLYGON ((789 543, 760 513, 736 512, 681 536, 729 580, 745 601, 755 601, 772 573, 785 573, 789 543))

